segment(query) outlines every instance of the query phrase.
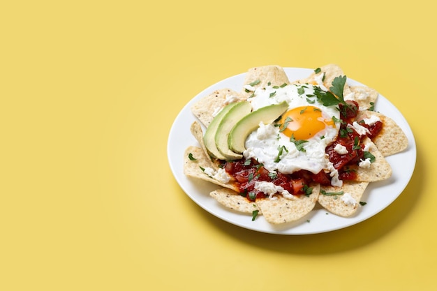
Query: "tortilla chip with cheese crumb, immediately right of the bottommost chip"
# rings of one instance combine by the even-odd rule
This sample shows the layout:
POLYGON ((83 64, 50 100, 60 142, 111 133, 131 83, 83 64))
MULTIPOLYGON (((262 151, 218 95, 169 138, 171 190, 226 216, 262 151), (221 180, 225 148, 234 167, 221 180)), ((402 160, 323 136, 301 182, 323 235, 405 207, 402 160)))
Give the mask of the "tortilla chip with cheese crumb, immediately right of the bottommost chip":
POLYGON ((318 202, 323 206, 327 211, 332 212, 332 214, 336 214, 338 216, 348 217, 357 211, 360 206, 360 199, 366 191, 368 182, 352 182, 345 181, 343 182, 343 186, 322 186, 321 190, 325 191, 326 194, 329 193, 341 193, 343 195, 324 195, 323 192, 318 196, 318 202), (353 200, 344 200, 342 199, 346 193, 352 196, 353 200), (348 202, 349 201, 349 202, 348 202))

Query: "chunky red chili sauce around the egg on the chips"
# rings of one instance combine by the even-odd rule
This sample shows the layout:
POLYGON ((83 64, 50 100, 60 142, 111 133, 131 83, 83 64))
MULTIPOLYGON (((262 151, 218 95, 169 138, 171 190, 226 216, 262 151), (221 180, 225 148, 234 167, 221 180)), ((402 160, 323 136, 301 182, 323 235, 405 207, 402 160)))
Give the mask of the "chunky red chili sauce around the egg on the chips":
MULTIPOLYGON (((366 136, 370 138, 378 135, 383 128, 383 123, 377 121, 371 126, 364 124, 364 121, 359 121, 361 126, 369 130, 367 135, 359 135, 353 128, 348 128, 348 124, 352 124, 357 117, 358 103, 355 101, 347 101, 348 106, 339 105, 340 117, 343 121, 339 129, 337 139, 329 144, 325 151, 329 156, 329 161, 334 164, 334 167, 339 172, 339 179, 354 180, 356 174, 350 169, 350 165, 357 165, 360 159, 364 156, 364 144, 362 140, 366 136), (336 144, 341 144, 348 149, 349 154, 338 154, 334 147, 336 144)), ((249 200, 267 197, 265 193, 255 189, 256 181, 272 182, 276 186, 281 186, 292 195, 305 195, 306 190, 311 182, 316 182, 321 185, 330 185, 331 177, 329 173, 323 170, 318 174, 313 174, 307 170, 299 170, 292 174, 282 174, 280 172, 271 173, 262 166, 262 164, 251 159, 246 161, 244 158, 237 161, 223 162, 223 168, 228 174, 235 178, 240 195, 247 197, 249 200)))

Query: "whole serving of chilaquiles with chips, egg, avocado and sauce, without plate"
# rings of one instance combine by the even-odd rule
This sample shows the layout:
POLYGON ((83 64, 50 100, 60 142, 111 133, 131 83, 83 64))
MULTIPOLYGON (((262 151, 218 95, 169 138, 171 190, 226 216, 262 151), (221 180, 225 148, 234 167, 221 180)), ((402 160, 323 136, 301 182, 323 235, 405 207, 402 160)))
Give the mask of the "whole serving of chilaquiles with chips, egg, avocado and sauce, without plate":
POLYGON ((408 146, 373 111, 377 98, 336 65, 292 82, 279 66, 251 68, 241 91, 220 89, 191 107, 199 145, 186 149, 184 174, 216 184, 211 197, 253 220, 296 221, 317 203, 352 216, 369 183, 391 176, 385 157, 408 146))

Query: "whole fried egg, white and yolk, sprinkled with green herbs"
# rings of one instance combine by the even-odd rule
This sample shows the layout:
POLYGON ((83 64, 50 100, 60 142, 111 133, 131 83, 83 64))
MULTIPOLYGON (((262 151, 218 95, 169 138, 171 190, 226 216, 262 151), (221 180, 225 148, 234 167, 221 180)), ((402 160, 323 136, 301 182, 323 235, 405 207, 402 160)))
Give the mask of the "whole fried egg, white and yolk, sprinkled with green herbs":
POLYGON ((325 148, 339 133, 340 112, 319 102, 312 84, 258 88, 249 98, 253 110, 288 103, 288 110, 272 124, 260 123, 246 139, 244 158, 255 158, 267 170, 291 174, 308 170, 317 174, 329 168, 325 148))

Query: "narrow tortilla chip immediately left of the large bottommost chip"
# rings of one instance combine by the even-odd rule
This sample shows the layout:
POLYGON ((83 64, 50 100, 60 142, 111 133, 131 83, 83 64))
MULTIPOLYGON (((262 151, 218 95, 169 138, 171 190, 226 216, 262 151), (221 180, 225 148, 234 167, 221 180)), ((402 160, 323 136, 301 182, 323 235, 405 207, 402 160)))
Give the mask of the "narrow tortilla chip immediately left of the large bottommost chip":
MULTIPOLYGON (((246 197, 243 197, 242 195, 239 195, 239 193, 227 188, 212 191, 209 195, 224 207, 228 207, 229 209, 238 212, 252 214, 252 211, 254 210, 260 211, 255 202, 250 202, 246 197)), ((261 214, 261 211, 258 212, 258 215, 259 214, 261 214)))

